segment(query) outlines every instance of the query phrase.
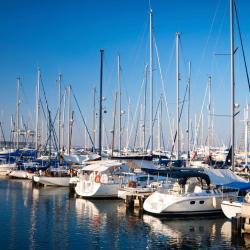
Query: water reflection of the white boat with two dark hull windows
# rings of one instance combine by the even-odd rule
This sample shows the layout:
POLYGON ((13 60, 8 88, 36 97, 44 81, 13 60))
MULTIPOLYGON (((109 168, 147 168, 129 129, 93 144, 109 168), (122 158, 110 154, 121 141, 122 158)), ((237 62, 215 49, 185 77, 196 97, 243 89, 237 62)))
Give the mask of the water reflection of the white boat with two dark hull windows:
POLYGON ((204 244, 225 248, 231 246, 231 235, 224 217, 166 219, 145 214, 143 221, 149 226, 151 234, 165 237, 171 247, 188 248, 192 245, 196 249, 204 244))

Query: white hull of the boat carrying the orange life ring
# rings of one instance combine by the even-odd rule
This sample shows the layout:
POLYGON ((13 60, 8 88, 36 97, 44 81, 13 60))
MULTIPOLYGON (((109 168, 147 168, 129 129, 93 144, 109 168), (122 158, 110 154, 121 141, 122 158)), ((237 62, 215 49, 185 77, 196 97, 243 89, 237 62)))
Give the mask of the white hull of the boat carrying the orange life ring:
POLYGON ((83 180, 77 183, 75 192, 85 198, 118 198, 118 183, 97 183, 83 180))

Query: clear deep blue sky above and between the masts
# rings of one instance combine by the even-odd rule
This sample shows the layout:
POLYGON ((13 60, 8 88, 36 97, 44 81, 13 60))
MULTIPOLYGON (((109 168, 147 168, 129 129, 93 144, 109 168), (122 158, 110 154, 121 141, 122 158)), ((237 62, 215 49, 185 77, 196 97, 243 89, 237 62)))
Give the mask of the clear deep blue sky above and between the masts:
MULTIPOLYGON (((250 2, 237 0, 247 60, 250 54, 250 2)), ((152 0, 154 33, 159 50, 167 101, 175 117, 175 33, 181 32, 181 96, 187 80, 187 61, 192 62, 192 119, 201 110, 207 77, 212 75, 215 113, 229 114, 229 0, 152 0)), ((57 103, 57 74, 65 86, 71 84, 89 127, 92 126, 92 90, 99 87, 99 50, 105 49, 104 96, 107 97, 107 130, 112 127, 114 93, 117 87, 117 53, 121 56, 123 109, 131 97, 135 112, 143 77, 149 63, 149 17, 146 0, 85 1, 2 1, 0 3, 0 120, 9 133, 10 116, 15 114, 16 77, 22 77, 21 111, 34 126, 36 69, 39 66, 52 110, 57 103)), ((236 32, 235 46, 240 46, 236 32)), ((154 59, 155 100, 161 84, 154 59)), ((241 50, 236 54, 236 101, 243 107, 248 98, 241 50)), ((156 104, 155 104, 156 105, 156 104)), ((74 105, 73 105, 74 106, 74 105)), ((204 123, 206 123, 206 106, 204 123)), ((76 110, 76 108, 75 108, 76 110)), ((78 111, 76 110, 76 113, 78 111)), ((125 117, 124 117, 125 119, 125 117)), ((185 129, 185 117, 182 127, 185 129)), ((74 143, 83 141, 83 123, 76 115, 74 143), (79 132, 80 131, 80 132, 79 132)), ((227 143, 229 120, 215 119, 215 133, 227 143)), ((237 126, 242 129, 242 122, 237 126)), ((204 130, 206 127, 204 127, 204 130)), ((165 130, 169 130, 165 124, 165 130)), ((8 135, 6 135, 8 136, 8 135)), ((204 135, 205 136, 205 135, 204 135)), ((239 136, 239 134, 238 134, 239 136)), ((221 142, 220 140, 217 142, 221 142)))

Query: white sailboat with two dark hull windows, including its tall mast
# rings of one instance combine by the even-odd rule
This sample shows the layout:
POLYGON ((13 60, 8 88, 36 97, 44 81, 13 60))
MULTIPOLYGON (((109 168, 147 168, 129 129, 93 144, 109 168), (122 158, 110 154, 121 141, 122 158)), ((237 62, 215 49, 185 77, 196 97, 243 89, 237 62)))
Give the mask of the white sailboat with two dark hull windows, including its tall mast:
MULTIPOLYGON (((231 34, 231 133, 232 149, 231 164, 234 171, 234 132, 235 132, 235 102, 234 102, 234 40, 233 40, 233 0, 230 0, 230 34, 231 34)), ((178 144, 177 144, 178 145, 178 144)), ((178 148, 178 147, 177 147, 178 148)), ((177 150, 178 151, 178 150, 177 150)), ((177 152, 178 155, 178 152, 177 152)), ((221 212, 223 207, 230 206, 230 200, 237 197, 238 191, 229 191, 217 188, 218 185, 225 185, 231 182, 246 182, 227 169, 204 169, 209 177, 206 185, 187 181, 176 183, 172 189, 158 190, 150 195, 144 202, 143 208, 154 214, 182 214, 194 215, 221 212), (222 202, 223 201, 223 202, 222 202), (222 202, 222 204, 221 204, 222 202)))

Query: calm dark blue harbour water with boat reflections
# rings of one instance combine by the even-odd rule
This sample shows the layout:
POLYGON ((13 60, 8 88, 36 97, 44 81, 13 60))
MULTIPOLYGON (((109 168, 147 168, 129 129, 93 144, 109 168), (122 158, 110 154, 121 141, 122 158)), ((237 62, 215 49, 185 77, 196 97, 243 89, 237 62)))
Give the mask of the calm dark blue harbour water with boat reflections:
POLYGON ((119 200, 84 200, 68 188, 0 179, 0 249, 244 249, 231 222, 164 219, 127 211, 119 200))

